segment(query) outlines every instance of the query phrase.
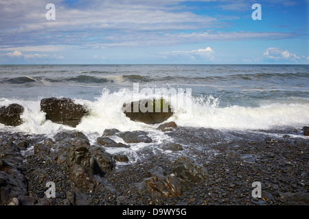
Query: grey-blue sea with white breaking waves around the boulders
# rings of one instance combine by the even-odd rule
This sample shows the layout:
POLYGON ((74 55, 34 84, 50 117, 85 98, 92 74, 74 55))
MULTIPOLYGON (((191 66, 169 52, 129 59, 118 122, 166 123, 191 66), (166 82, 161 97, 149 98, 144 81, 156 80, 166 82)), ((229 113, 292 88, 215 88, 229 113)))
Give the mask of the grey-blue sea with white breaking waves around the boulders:
MULTIPOLYGON (((0 124, 0 131, 52 138, 59 131, 76 130, 95 143, 104 129, 142 130, 159 144, 170 140, 157 130, 160 124, 132 121, 122 108, 124 103, 153 97, 171 103, 174 114, 166 122, 179 127, 301 130, 309 125, 309 65, 0 65, 0 106, 25 107, 22 125, 0 124), (91 113, 75 128, 52 123, 40 107, 41 99, 49 97, 73 99, 91 113)), ((122 150, 139 150, 143 144, 122 150)))

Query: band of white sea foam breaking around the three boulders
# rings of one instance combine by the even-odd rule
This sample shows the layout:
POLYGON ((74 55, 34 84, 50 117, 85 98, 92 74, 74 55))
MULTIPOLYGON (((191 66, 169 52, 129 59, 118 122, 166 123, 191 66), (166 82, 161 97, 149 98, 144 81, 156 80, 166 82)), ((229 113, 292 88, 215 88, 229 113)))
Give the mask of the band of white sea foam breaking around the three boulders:
MULTIPOLYGON (((174 107, 175 96, 163 98, 171 101, 174 107)), ((184 96, 190 98, 190 96, 184 96)), ((149 98, 146 94, 139 94, 138 99, 149 98)), ((41 112, 40 100, 24 101, 19 99, 0 99, 0 105, 19 103, 25 107, 21 118, 23 124, 18 127, 0 125, 2 131, 21 131, 25 133, 54 135, 61 129, 83 131, 89 135, 102 134, 104 129, 119 129, 119 131, 154 131, 158 125, 147 125, 130 120, 123 112, 124 103, 132 101, 132 91, 124 89, 118 92, 104 90, 95 101, 83 99, 74 100, 87 106, 89 115, 84 116, 76 127, 59 125, 45 120, 45 113, 41 112)), ((188 100, 186 100, 188 101, 188 100)), ((303 127, 309 124, 309 103, 265 103, 259 107, 244 107, 232 105, 220 107, 219 100, 213 96, 192 97, 190 109, 185 105, 178 105, 168 121, 175 121, 184 127, 207 127, 214 129, 272 129, 274 127, 303 127)))

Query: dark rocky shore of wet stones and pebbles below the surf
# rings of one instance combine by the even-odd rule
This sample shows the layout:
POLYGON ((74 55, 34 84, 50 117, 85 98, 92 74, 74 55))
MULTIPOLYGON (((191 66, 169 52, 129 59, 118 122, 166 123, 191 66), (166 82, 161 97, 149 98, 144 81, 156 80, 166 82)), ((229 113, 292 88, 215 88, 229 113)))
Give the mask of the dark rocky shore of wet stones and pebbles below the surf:
POLYGON ((0 133, 0 205, 308 205, 308 137, 301 130, 160 127, 173 143, 130 162, 106 148, 148 144, 145 131, 80 131, 54 138, 0 133), (111 136, 126 144, 114 142, 111 136), (47 198, 47 182, 54 196, 47 198), (252 196, 260 182, 262 196, 252 196))

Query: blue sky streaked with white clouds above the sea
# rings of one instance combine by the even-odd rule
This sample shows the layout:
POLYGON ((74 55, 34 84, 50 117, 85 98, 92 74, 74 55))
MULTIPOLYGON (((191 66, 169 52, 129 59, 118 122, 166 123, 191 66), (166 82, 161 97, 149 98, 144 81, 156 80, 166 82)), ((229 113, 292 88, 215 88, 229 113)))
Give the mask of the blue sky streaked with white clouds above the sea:
POLYGON ((309 0, 0 0, 0 64, 309 64, 308 10, 309 0))

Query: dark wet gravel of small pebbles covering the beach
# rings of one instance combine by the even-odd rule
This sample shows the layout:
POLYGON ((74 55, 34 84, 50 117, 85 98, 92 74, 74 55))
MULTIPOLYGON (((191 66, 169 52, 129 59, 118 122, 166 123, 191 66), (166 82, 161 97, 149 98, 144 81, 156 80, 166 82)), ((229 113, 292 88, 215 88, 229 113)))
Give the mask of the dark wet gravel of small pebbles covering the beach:
POLYGON ((20 153, 28 196, 27 201, 21 200, 24 196, 9 197, 4 205, 309 205, 309 140, 301 130, 177 127, 165 131, 165 135, 181 150, 165 153, 166 144, 158 144, 153 150, 141 152, 143 158, 136 162, 117 162, 104 177, 94 177, 97 184, 93 190, 82 191, 70 178, 69 168, 53 158, 54 153, 47 157, 34 155, 32 146, 44 144, 45 136, 0 133, 2 143, 14 142, 23 147, 20 153), (192 157, 196 165, 207 170, 205 183, 182 184, 181 194, 166 197, 145 187, 146 179, 154 177, 150 172, 158 167, 164 174, 153 180, 170 176, 168 179, 182 183, 173 167, 183 156, 192 157), (56 184, 56 198, 46 198, 48 181, 56 184), (253 182, 261 183, 261 197, 253 197, 253 182))

